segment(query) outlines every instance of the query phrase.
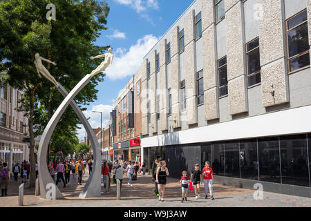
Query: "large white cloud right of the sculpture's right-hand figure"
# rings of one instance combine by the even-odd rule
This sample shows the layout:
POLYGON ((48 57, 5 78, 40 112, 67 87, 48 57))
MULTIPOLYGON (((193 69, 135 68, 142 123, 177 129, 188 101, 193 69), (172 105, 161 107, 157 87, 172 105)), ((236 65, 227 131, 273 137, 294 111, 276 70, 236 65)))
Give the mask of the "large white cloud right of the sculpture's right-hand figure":
MULTIPOLYGON (((115 55, 113 65, 106 69, 106 76, 110 79, 122 79, 134 75, 142 65, 144 55, 156 45, 158 39, 160 37, 145 35, 142 39, 138 39, 136 44, 129 48, 128 52, 120 49, 124 54, 115 55)), ((117 49, 119 52, 120 50, 117 49)))

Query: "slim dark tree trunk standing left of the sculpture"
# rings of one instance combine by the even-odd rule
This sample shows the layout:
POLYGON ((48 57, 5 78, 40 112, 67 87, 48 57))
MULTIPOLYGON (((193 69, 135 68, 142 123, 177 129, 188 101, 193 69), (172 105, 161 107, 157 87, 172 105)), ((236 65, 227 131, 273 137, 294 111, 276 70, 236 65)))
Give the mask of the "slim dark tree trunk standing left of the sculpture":
POLYGON ((35 172, 35 137, 33 134, 33 112, 35 108, 35 91, 29 91, 30 111, 28 117, 29 135, 30 135, 30 187, 35 187, 36 172, 35 172))

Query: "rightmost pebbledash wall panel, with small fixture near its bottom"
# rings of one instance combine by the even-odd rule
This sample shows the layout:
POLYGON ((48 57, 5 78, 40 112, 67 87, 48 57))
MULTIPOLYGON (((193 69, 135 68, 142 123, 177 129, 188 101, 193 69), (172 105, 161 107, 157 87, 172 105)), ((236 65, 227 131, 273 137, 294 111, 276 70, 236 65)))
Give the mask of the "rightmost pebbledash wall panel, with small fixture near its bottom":
POLYGON ((263 19, 258 21, 261 55, 263 106, 289 102, 288 75, 285 65, 282 1, 258 0, 263 6, 263 19), (273 86, 273 88, 272 88, 273 86), (275 90, 275 96, 272 96, 275 90))

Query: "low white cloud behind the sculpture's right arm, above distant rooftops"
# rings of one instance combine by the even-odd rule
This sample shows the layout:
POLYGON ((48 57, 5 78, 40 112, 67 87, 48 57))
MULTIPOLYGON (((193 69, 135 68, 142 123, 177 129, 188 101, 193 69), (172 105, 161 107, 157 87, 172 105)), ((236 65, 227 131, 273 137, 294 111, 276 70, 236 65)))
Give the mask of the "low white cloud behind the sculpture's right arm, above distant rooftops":
MULTIPOLYGON (((86 119, 88 117, 91 117, 88 119, 88 122, 91 124, 92 128, 99 128, 100 127, 100 113, 93 113, 92 111, 100 111, 102 112, 102 126, 106 126, 110 120, 110 113, 113 110, 113 106, 110 105, 97 105, 97 106, 92 106, 91 111, 84 111, 84 115, 86 116, 86 119)), ((77 130, 77 137, 79 140, 83 140, 84 136, 86 135, 85 128, 82 124, 78 125, 81 127, 81 129, 77 130)))

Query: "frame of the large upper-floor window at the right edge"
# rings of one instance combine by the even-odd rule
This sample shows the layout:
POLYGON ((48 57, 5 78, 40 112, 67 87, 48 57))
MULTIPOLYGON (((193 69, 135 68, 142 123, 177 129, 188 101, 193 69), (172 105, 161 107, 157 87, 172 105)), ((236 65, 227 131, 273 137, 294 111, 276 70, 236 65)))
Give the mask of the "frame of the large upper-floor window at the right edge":
MULTIPOLYGON (((296 70, 293 70, 293 71, 290 71, 290 61, 293 60, 293 59, 296 59, 298 57, 302 57, 303 55, 306 55, 308 53, 310 53, 310 48, 309 50, 305 50, 304 52, 301 52, 299 53, 298 55, 294 55, 293 57, 290 57, 290 45, 289 45, 289 42, 288 42, 288 33, 292 30, 294 30, 295 28, 298 28, 299 26, 302 26, 304 25, 305 23, 307 23, 307 29, 309 29, 309 26, 308 26, 308 17, 307 17, 307 20, 303 21, 302 23, 299 23, 298 25, 288 29, 288 21, 290 21, 291 19, 293 19, 294 17, 300 15, 301 13, 307 11, 307 8, 301 10, 300 12, 296 13, 295 15, 293 15, 292 17, 288 18, 285 20, 285 34, 286 34, 286 55, 287 55, 287 65, 288 65, 288 74, 292 74, 292 73, 296 73, 300 70, 304 70, 306 68, 310 68, 310 64, 308 66, 304 66, 303 68, 299 68, 299 69, 296 69, 296 70)), ((307 16, 308 16, 308 12, 307 12, 307 16)), ((309 36, 308 36, 309 38, 309 36)), ((309 39, 310 40, 310 39, 309 39)), ((311 61, 310 61, 311 62, 311 61)))

